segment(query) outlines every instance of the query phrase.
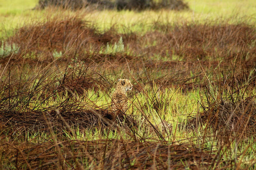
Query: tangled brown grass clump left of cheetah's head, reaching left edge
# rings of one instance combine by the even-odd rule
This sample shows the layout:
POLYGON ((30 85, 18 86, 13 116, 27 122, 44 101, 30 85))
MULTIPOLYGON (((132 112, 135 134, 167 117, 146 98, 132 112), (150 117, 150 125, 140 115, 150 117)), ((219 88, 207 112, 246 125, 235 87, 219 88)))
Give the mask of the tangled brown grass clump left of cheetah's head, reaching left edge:
MULTIPOLYGON (((54 65, 55 64, 51 64, 50 67, 54 67, 54 65)), ((103 76, 100 77, 94 73, 87 73, 90 67, 89 63, 73 61, 69 63, 69 66, 70 67, 65 66, 65 69, 58 68, 53 71, 45 69, 41 74, 29 73, 31 76, 36 76, 38 78, 36 80, 34 79, 35 77, 31 78, 31 76, 26 80, 19 80, 17 75, 12 75, 10 79, 6 77, 3 79, 2 86, 0 87, 0 92, 3 97, 0 102, 5 101, 6 98, 13 100, 18 95, 23 101, 18 100, 17 103, 14 104, 17 106, 18 103, 21 104, 25 100, 36 101, 35 98, 39 98, 43 100, 43 102, 47 101, 49 98, 56 99, 56 95, 63 96, 66 94, 65 92, 67 92, 69 96, 76 96, 86 94, 88 89, 94 89, 95 92, 97 92, 99 89, 108 91, 108 89, 111 88, 111 84, 104 79, 103 76), (36 85, 31 87, 35 82, 36 85)), ((24 105, 24 103, 22 105, 24 105)))

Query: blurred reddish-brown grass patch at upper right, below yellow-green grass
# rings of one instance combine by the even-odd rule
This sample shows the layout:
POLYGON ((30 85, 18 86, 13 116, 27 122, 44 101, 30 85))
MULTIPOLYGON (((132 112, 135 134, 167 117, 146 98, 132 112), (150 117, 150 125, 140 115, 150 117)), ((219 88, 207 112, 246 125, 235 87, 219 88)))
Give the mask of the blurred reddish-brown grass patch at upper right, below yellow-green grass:
POLYGON ((173 49, 172 53, 186 58, 212 56, 230 59, 241 52, 253 55, 255 50, 250 46, 256 38, 255 29, 243 23, 237 25, 184 23, 181 26, 161 26, 156 23, 155 27, 164 31, 165 35, 149 32, 145 36, 148 38, 156 35, 155 39, 160 39, 163 45, 173 49))

